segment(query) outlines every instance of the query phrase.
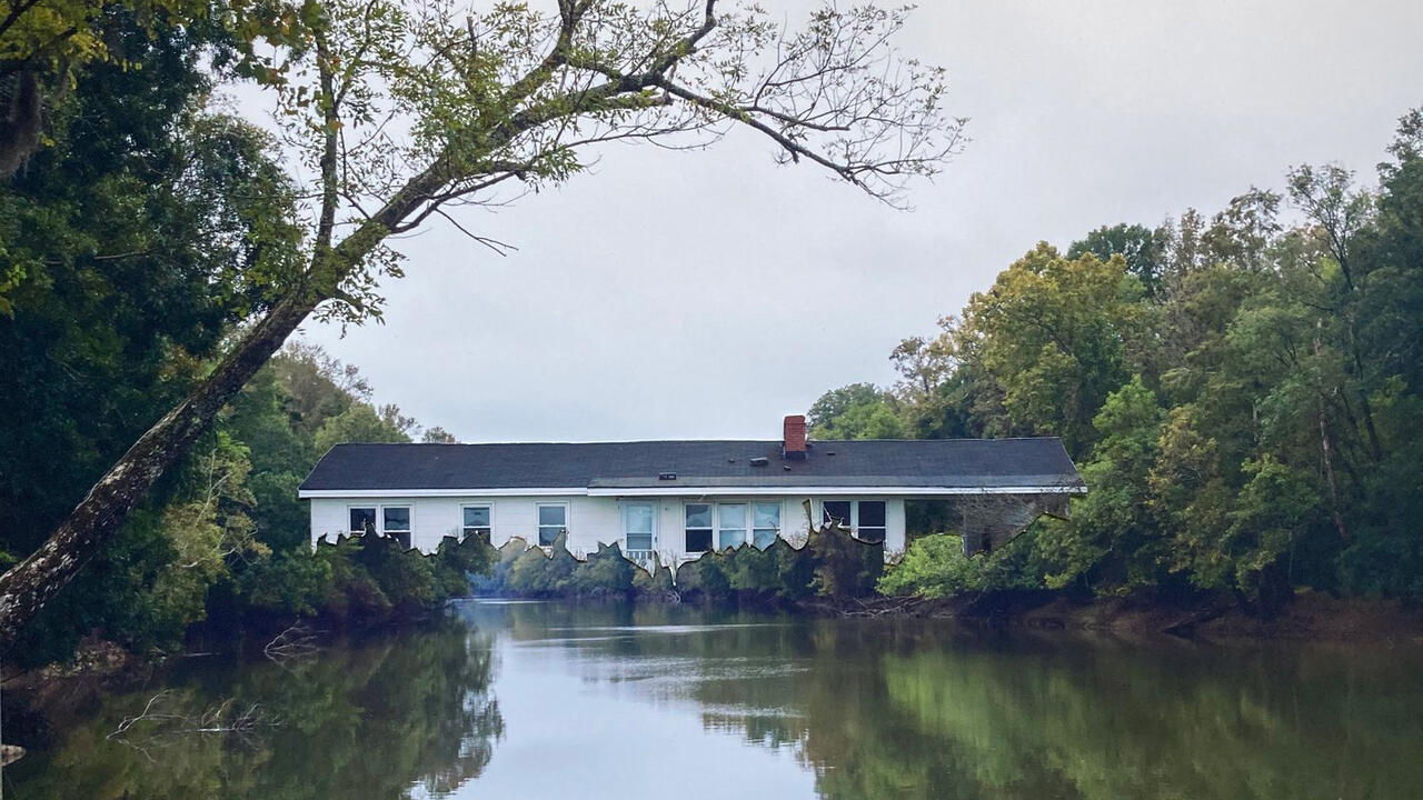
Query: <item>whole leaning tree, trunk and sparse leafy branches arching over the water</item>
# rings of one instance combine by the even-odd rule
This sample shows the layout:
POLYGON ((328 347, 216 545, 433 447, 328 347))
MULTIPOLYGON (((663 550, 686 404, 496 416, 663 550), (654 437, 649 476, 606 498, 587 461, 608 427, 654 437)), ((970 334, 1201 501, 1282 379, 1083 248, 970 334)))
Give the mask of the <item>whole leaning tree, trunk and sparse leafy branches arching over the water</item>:
MULTIPOLYGON (((307 317, 380 315, 390 236, 431 216, 502 251, 451 211, 562 182, 606 142, 700 148, 731 128, 768 137, 899 204, 905 184, 958 151, 943 74, 898 56, 904 10, 811 14, 801 30, 717 0, 558 0, 556 13, 448 0, 329 0, 236 20, 268 34, 253 74, 276 94, 285 144, 317 177, 305 265, 252 275, 273 298, 218 367, 125 453, 50 540, 0 577, 0 642, 101 552, 164 470, 307 317)), ((239 30, 239 33, 242 33, 239 30)))

